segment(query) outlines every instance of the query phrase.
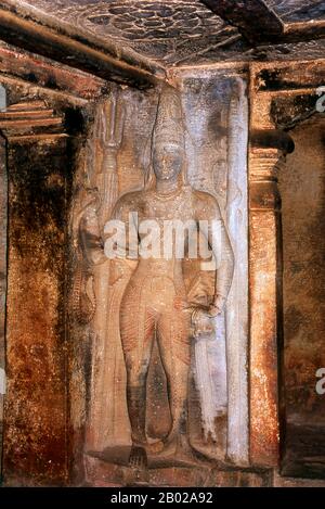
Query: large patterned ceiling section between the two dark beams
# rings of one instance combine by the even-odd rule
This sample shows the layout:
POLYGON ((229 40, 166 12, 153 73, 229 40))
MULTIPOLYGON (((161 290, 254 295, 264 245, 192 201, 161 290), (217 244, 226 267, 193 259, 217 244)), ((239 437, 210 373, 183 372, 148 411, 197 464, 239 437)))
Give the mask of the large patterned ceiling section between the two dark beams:
POLYGON ((34 0, 32 5, 73 24, 81 34, 123 41, 167 64, 214 48, 231 50, 240 39, 236 28, 199 0, 34 0))

